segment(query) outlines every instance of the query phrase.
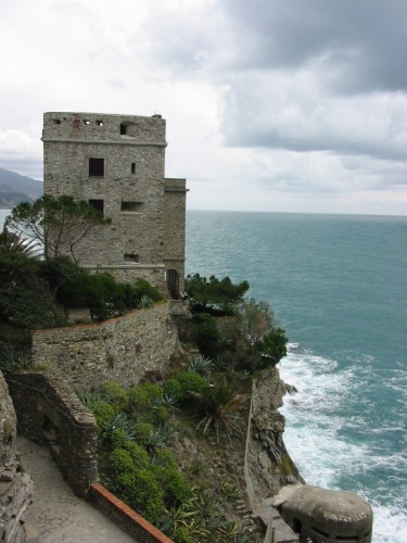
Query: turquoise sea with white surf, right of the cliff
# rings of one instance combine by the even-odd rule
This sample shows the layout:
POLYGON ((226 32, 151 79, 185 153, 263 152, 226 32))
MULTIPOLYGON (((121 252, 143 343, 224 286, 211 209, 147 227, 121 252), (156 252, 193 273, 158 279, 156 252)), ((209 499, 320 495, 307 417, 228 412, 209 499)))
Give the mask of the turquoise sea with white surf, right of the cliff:
POLYGON ((290 338, 284 441, 407 542, 407 217, 188 212, 187 272, 247 279, 290 338))

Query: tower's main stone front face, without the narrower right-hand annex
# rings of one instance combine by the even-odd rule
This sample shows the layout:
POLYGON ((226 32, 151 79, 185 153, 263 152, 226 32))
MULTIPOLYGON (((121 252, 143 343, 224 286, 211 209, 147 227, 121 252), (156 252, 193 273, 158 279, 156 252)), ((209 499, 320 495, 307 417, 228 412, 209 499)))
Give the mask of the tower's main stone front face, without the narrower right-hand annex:
POLYGON ((165 121, 46 113, 42 141, 44 193, 99 202, 112 218, 78 243, 80 264, 162 264, 165 121), (91 172, 94 160, 103 161, 101 172, 91 172))

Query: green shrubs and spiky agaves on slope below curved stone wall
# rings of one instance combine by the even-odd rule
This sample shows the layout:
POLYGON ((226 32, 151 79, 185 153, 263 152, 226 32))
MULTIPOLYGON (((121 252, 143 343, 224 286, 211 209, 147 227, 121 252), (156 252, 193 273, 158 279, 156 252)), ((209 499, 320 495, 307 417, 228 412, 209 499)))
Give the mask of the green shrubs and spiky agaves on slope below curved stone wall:
MULTIPOLYGON (((206 370, 207 359, 201 362, 206 370)), ((107 383, 98 394, 78 393, 97 418, 99 472, 107 489, 176 543, 214 538, 246 543, 240 523, 226 514, 240 497, 233 480, 208 480, 206 464, 193 457, 181 472, 174 454, 175 442, 187 435, 216 435, 221 443, 241 438, 246 417, 247 396, 236 392, 232 380, 216 371, 205 378, 193 364, 160 384, 143 382, 125 390, 107 383), (177 411, 166 403, 169 394, 179 402, 177 411)))

